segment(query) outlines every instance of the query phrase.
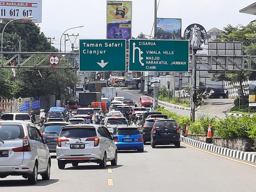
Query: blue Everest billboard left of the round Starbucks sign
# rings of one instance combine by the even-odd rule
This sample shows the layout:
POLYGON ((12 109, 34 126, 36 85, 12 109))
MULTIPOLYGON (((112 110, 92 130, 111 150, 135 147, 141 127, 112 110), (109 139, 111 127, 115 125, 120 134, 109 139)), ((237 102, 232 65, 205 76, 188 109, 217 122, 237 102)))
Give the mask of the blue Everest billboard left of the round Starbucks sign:
POLYGON ((180 39, 181 19, 158 18, 156 38, 158 39, 180 39))

